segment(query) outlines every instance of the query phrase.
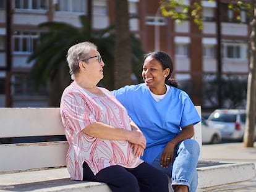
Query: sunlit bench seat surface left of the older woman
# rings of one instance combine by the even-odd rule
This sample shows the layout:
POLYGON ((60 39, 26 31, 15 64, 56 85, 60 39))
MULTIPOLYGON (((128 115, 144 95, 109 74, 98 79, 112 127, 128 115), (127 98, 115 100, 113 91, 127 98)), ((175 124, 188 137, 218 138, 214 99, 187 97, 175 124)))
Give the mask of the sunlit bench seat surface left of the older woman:
POLYGON ((104 191, 111 192, 108 185, 98 182, 70 180, 66 168, 33 170, 0 175, 0 191, 104 191))

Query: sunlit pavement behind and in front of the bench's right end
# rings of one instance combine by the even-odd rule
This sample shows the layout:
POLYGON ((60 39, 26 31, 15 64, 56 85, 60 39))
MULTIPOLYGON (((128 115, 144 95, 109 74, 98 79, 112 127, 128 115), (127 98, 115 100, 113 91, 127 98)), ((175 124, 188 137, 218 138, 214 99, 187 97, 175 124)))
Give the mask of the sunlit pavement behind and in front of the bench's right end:
MULTIPOLYGON (((205 161, 219 162, 254 162, 256 167, 256 142, 254 143, 254 148, 244 148, 243 143, 206 144, 202 146, 202 159, 205 161)), ((203 191, 255 192, 256 177, 247 182, 215 186, 212 188, 207 188, 203 191)))

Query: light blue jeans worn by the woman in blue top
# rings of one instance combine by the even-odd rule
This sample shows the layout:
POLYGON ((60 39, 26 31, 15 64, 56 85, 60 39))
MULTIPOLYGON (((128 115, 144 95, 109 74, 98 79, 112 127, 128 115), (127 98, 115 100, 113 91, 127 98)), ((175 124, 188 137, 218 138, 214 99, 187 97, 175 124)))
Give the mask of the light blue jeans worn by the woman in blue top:
POLYGON ((174 151, 173 164, 167 169, 161 167, 161 153, 156 157, 153 166, 162 170, 171 177, 171 185, 187 185, 190 192, 197 191, 197 162, 200 146, 197 141, 189 139, 179 143, 174 151))

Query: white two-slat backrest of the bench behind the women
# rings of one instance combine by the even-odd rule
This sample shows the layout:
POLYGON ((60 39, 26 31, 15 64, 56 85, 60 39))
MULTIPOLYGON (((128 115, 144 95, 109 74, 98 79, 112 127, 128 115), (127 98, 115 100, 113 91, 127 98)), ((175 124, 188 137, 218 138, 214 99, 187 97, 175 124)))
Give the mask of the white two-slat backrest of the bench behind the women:
MULTIPOLYGON (((202 146, 200 126, 194 139, 202 146)), ((59 108, 0 108, 0 138, 58 135, 64 135, 59 108)), ((67 141, 0 144, 0 173, 65 166, 68 147, 67 141)))

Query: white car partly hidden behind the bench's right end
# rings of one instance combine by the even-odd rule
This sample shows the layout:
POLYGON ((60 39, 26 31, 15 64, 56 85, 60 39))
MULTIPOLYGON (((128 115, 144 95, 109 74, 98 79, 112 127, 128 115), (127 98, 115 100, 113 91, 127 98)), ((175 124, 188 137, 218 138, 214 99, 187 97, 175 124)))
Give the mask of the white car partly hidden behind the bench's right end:
POLYGON ((207 121, 202 117, 202 143, 221 143, 221 133, 217 128, 210 128, 207 121))

